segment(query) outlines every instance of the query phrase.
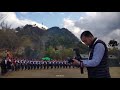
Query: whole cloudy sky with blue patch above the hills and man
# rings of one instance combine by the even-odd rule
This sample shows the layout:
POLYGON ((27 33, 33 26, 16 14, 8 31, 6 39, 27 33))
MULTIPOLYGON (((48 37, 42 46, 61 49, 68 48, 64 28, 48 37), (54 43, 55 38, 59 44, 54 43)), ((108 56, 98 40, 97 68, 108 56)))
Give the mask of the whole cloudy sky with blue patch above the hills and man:
POLYGON ((94 36, 104 40, 120 42, 120 12, 0 12, 1 21, 12 28, 26 24, 36 24, 38 27, 50 28, 58 26, 67 28, 78 38, 84 30, 89 30, 94 36))

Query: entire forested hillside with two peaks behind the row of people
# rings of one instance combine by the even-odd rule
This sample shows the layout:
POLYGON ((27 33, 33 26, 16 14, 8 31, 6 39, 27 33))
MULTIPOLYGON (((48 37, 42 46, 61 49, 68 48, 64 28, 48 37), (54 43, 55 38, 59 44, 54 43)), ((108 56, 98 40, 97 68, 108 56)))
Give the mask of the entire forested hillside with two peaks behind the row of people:
POLYGON ((1 50, 9 49, 20 55, 25 55, 28 49, 34 49, 44 56, 47 49, 59 49, 59 47, 66 50, 79 47, 81 53, 87 51, 87 47, 73 33, 66 28, 59 27, 51 27, 46 30, 27 24, 16 29, 0 29, 0 42, 1 50))

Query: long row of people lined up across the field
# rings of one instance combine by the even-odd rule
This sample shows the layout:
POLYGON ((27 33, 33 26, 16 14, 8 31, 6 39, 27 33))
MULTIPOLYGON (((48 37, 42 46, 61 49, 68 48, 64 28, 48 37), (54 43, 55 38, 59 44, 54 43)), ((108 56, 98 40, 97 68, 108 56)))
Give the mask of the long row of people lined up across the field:
POLYGON ((35 70, 35 69, 58 69, 58 68, 75 68, 78 66, 68 63, 67 60, 36 60, 36 59, 19 59, 5 57, 1 63, 1 75, 8 71, 18 70, 35 70))

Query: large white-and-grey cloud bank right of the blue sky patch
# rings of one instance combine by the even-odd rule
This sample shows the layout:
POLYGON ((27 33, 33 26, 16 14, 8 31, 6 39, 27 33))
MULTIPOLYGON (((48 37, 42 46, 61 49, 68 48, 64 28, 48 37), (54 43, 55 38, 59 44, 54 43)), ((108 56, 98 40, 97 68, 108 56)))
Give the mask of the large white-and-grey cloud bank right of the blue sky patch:
POLYGON ((64 18, 64 27, 78 38, 84 30, 89 30, 106 44, 111 39, 120 43, 120 12, 86 12, 76 21, 64 18))

